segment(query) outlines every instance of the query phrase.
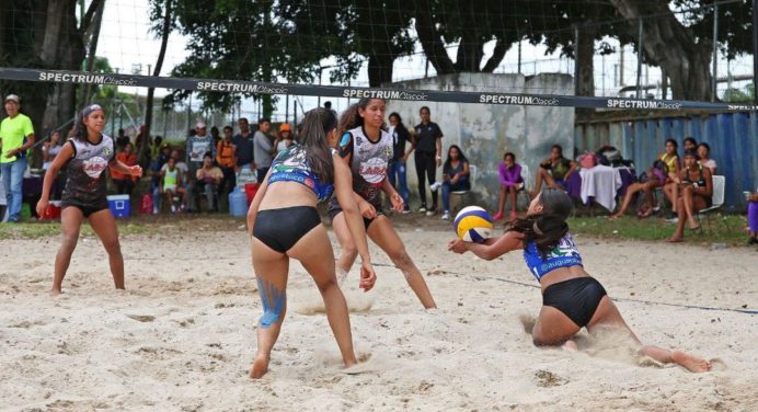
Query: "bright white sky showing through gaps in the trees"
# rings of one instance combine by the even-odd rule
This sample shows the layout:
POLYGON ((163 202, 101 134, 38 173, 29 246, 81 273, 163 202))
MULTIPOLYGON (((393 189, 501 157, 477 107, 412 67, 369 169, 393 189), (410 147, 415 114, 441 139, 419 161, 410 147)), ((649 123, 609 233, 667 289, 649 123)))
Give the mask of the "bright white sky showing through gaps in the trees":
MULTIPOLYGON (((612 39, 610 41, 612 43, 612 39)), ((169 38, 169 48, 163 64, 161 76, 169 76, 171 69, 184 61, 187 57, 185 50, 186 38, 177 33, 172 33, 169 38)), ((491 55, 494 42, 485 47, 485 57, 491 55)), ((421 46, 417 46, 421 52, 421 46)), ((156 64, 160 50, 160 39, 156 38, 154 33, 150 32, 148 0, 108 0, 105 2, 100 41, 97 44, 97 56, 106 57, 111 66, 117 68, 119 72, 134 73, 139 70, 147 75, 148 68, 156 64)), ((455 58, 455 48, 448 49, 448 54, 455 58)), ((563 72, 573 73, 574 61, 562 58, 558 53, 545 56, 544 46, 532 46, 527 42, 521 45, 521 72, 535 75, 537 72, 563 72)), ((505 56, 505 59, 495 72, 517 72, 518 71, 518 47, 514 45, 505 56)), ((325 60, 323 66, 330 66, 333 61, 325 60)), ((597 95, 616 94, 619 89, 619 69, 623 66, 624 84, 634 84, 636 79, 636 58, 631 48, 627 48, 623 55, 623 65, 620 64, 620 55, 607 57, 596 56, 596 89, 597 95)), ((720 77, 725 76, 727 69, 735 75, 751 73, 751 57, 738 58, 731 64, 720 56, 719 59, 720 77)), ((393 81, 417 79, 424 77, 426 59, 423 54, 403 57, 395 61, 393 81)), ((429 67, 428 75, 434 76, 434 68, 429 67)), ((251 79, 254 80, 254 79, 251 79)), ((643 84, 654 84, 661 81, 661 70, 658 68, 643 68, 643 84)), ((315 81, 314 83, 318 83, 315 81)), ((324 70, 322 84, 329 84, 329 72, 324 70)), ((364 66, 357 79, 352 81, 352 85, 368 85, 367 69, 364 66)), ((737 84, 738 87, 744 84, 737 84)), ((720 85, 720 90, 726 88, 726 83, 720 85)), ((127 93, 146 94, 147 89, 122 88, 127 93)), ((158 96, 164 95, 164 90, 157 90, 158 96)), ((299 106, 305 108, 313 107, 318 104, 317 98, 298 98, 299 106)), ((670 99, 670 94, 669 94, 670 99)), ((347 100, 331 99, 334 108, 341 111, 347 106, 347 100)), ((284 99, 280 100, 278 111, 284 115, 284 99)), ((323 102, 323 100, 321 101, 323 102)), ((294 103, 290 103, 290 105, 294 103)), ((299 110, 299 107, 298 107, 299 110)), ((243 114, 251 118, 257 117, 257 105, 252 101, 242 104, 243 114)), ((290 110, 291 113, 291 110, 290 110)))

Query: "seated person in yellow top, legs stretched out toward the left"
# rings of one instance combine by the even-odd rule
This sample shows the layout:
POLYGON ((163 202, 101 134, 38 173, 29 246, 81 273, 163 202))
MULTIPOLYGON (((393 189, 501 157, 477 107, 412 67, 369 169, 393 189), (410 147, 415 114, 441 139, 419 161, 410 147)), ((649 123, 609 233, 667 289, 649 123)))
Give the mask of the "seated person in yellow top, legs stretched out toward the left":
POLYGON ((666 182, 670 179, 668 175, 669 170, 675 170, 675 173, 679 172, 679 156, 676 150, 677 142, 673 139, 666 140, 666 151, 658 156, 658 160, 656 160, 653 167, 647 171, 647 180, 632 183, 627 188, 621 209, 610 217, 611 220, 616 220, 627 213, 629 205, 634 198, 634 194, 640 191, 645 193, 645 206, 638 210, 638 216, 647 217, 653 213, 653 191, 655 191, 656 187, 664 187, 666 182))

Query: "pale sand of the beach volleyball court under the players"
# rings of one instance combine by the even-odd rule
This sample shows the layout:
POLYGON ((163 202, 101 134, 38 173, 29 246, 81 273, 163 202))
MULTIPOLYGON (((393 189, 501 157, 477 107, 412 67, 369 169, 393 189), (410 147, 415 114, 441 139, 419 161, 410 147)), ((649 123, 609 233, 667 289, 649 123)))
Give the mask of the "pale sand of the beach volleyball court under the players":
MULTIPOLYGON (((248 379, 261 305, 241 230, 122 237, 126 293, 112 289, 93 238, 50 298, 58 239, 0 241, 0 408, 7 410, 755 411, 758 316, 618 301, 645 342, 719 357, 717 370, 638 366, 632 352, 540 350, 519 316, 538 289, 514 253, 494 262, 445 251, 449 231, 401 234, 441 309, 424 311, 402 274, 378 267, 368 311, 353 313, 358 375, 340 370, 318 293, 292 265, 290 311, 271 371, 248 379), (214 245, 214 247, 210 247, 214 245), (439 271, 437 271, 439 270, 439 271), (440 271, 460 273, 453 275, 440 271), (472 275, 480 276, 475 279, 472 275)), ((205 228, 206 230, 203 230, 205 228)), ((437 229, 441 230, 441 228, 437 229)), ((746 248, 577 238, 612 297, 758 309, 758 254, 746 248)), ((377 263, 388 263, 375 254, 377 263)), ((348 277, 356 295, 356 271, 348 277)), ((366 300, 361 300, 365 302, 366 300)), ((357 302, 357 306, 361 305, 357 302)), ((587 339, 579 341, 583 346, 587 339)), ((598 348, 598 346, 594 346, 598 348)))

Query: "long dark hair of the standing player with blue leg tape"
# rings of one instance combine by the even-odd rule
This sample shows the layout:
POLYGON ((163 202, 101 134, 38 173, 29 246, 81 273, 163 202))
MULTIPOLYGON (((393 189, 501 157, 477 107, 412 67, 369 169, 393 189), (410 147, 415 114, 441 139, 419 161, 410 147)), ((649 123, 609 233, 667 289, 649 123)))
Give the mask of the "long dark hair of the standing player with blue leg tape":
POLYGON ((306 113, 300 124, 298 142, 306 149, 306 157, 311 171, 322 182, 334 181, 334 163, 326 135, 335 127, 337 127, 336 117, 331 111, 323 107, 313 108, 306 113))

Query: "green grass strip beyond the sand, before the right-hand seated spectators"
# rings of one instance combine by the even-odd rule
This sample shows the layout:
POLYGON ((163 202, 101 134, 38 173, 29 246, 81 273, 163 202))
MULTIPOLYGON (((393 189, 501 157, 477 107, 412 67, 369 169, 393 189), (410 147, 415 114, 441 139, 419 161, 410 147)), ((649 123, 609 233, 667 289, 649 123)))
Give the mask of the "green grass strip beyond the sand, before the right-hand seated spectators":
MULTIPOLYGON (((698 232, 692 232, 685 227, 685 242, 690 243, 726 243, 731 245, 745 244, 745 217, 713 215, 710 227, 708 219, 702 218, 702 227, 698 232)), ((625 216, 610 221, 607 216, 574 217, 568 219, 571 231, 579 234, 592 234, 599 238, 632 239, 647 241, 664 241, 676 230, 674 224, 662 218, 639 219, 625 216)))

